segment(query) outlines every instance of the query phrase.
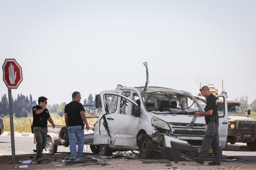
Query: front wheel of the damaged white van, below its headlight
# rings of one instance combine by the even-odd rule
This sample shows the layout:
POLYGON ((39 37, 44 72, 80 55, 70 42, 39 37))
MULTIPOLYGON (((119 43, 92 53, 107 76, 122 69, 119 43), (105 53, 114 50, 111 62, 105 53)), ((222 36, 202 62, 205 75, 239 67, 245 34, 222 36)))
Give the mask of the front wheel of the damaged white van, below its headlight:
POLYGON ((151 150, 149 142, 147 134, 142 135, 139 140, 139 156, 143 159, 153 159, 156 155, 156 152, 151 150))

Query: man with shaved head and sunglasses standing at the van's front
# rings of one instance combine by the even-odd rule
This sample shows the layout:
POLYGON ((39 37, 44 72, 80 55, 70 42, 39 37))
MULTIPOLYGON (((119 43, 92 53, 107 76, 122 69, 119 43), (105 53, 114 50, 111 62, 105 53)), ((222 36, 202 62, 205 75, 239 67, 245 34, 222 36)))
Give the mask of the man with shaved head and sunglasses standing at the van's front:
POLYGON ((206 98, 205 112, 196 112, 197 116, 204 116, 207 129, 202 141, 202 149, 198 159, 193 158, 192 161, 204 164, 204 160, 208 155, 210 146, 212 147, 214 159, 208 165, 221 165, 221 147, 219 146, 219 117, 217 112, 216 97, 210 92, 207 86, 200 89, 202 96, 206 98))

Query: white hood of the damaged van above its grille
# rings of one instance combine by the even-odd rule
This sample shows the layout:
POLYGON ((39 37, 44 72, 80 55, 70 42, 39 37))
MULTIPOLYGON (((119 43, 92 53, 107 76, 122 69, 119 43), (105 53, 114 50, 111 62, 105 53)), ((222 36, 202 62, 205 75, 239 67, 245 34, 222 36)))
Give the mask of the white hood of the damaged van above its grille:
MULTIPOLYGON (((193 115, 175 115, 175 114, 153 114, 153 115, 167 123, 187 123, 187 124, 189 124, 193 119, 193 115)), ((197 116, 195 124, 205 124, 204 117, 197 116)))

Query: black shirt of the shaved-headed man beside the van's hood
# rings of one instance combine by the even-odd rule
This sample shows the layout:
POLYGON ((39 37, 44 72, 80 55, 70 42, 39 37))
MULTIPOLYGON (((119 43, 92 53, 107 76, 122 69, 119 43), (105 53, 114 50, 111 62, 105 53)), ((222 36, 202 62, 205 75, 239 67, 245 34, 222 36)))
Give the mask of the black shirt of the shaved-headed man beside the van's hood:
POLYGON ((205 106, 205 112, 209 110, 212 111, 212 115, 204 116, 206 124, 210 121, 210 116, 218 115, 217 113, 217 99, 213 94, 211 93, 209 97, 206 98, 206 106, 205 106))

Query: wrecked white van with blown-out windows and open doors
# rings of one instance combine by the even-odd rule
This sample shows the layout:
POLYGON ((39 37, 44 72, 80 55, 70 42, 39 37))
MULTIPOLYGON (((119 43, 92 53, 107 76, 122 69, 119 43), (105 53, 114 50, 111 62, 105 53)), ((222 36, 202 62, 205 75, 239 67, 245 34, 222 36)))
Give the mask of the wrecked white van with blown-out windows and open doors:
MULTIPOLYGON (((145 65, 146 66, 146 65, 145 65)), ((147 67, 147 66, 146 66, 147 67)), ((138 150, 143 159, 157 152, 168 160, 198 158, 206 127, 203 111, 193 95, 162 87, 122 87, 103 91, 96 97, 102 113, 95 124, 94 143, 102 155, 113 151, 138 150)), ((226 101, 226 95, 219 95, 226 101)), ((227 140, 227 103, 220 121, 220 143, 227 140)), ((207 160, 213 159, 209 150, 207 160)))

